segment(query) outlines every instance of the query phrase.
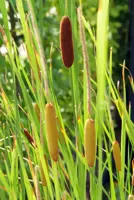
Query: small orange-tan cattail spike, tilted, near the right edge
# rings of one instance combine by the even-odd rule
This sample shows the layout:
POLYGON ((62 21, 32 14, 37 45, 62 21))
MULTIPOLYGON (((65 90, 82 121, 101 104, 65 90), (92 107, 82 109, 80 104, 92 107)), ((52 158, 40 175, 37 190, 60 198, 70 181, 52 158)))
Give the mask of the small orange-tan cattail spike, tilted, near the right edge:
POLYGON ((116 169, 118 171, 121 171, 121 152, 120 152, 119 143, 117 141, 113 142, 113 156, 114 156, 116 169))

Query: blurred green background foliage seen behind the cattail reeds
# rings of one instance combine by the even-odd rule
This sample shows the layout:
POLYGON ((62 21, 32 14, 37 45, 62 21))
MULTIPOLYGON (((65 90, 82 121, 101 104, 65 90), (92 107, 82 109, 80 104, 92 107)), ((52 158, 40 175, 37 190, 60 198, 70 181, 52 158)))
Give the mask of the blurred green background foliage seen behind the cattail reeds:
MULTIPOLYGON (((24 37, 22 34, 21 26, 19 19, 15 15, 16 10, 16 1, 9 1, 9 17, 11 23, 11 33, 15 39, 15 42, 18 46, 24 42, 24 37), (12 6, 14 6, 12 8, 12 6), (11 10, 11 11, 10 11, 11 10)), ((34 12, 38 22, 38 27, 42 37, 42 44, 45 49, 45 55, 48 66, 52 65, 53 67, 53 78, 54 78, 54 87, 55 92, 57 93, 57 98, 59 99, 59 105, 61 107, 61 112, 63 112, 66 121, 70 121, 72 114, 72 101, 71 101, 71 88, 70 81, 68 80, 68 71, 63 67, 60 54, 59 46, 59 22, 61 16, 64 15, 64 10, 60 9, 60 4, 58 0, 55 1, 35 1, 34 12), (42 9, 40 10, 40 7, 42 9), (61 84, 62 82, 62 84, 61 84), (59 90, 60 88, 60 90, 59 90), (66 112, 64 110, 64 104, 68 104, 66 112)), ((77 8, 78 3, 76 3, 77 8)), ((25 11, 28 13, 27 6, 25 6, 25 11)), ((97 13, 98 1, 83 1, 83 14, 85 19, 90 24, 93 32, 96 30, 96 13, 97 13)), ((127 59, 128 51, 128 28, 129 28, 129 10, 128 10, 128 1, 111 1, 110 3, 110 24, 108 28, 108 40, 109 40, 109 49, 113 49, 113 77, 115 82, 121 79, 121 67, 119 64, 123 63, 124 59, 127 59), (123 13, 123 14, 122 14, 123 13)), ((92 72, 92 77, 96 79, 96 67, 95 67, 95 48, 87 34, 87 47, 89 52, 90 67, 92 72)), ((2 41, 1 41, 2 46, 2 41)), ((81 52, 81 44, 78 44, 78 51, 81 52)), ((5 66, 5 59, 1 56, 2 65, 5 66)), ((82 57, 79 57, 78 68, 82 80, 82 57)), ((28 67, 27 59, 23 59, 24 67, 28 67)), ((10 76, 10 69, 7 67, 1 68, 0 78, 5 85, 7 91, 11 90, 10 81, 8 83, 5 81, 4 77, 10 76)), ((11 77, 12 81, 12 77, 11 77)))

